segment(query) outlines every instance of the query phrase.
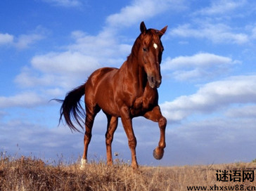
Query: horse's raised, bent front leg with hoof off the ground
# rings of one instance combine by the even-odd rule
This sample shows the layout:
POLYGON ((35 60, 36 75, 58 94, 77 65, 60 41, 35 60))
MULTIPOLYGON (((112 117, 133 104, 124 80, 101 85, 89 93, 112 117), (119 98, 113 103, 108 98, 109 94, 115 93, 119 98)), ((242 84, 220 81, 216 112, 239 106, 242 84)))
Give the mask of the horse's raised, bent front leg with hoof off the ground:
POLYGON ((165 119, 165 117, 162 116, 159 105, 154 107, 153 110, 151 110, 150 112, 146 112, 146 114, 144 114, 144 117, 146 117, 147 119, 151 119, 152 121, 158 122, 158 126, 160 129, 160 140, 158 143, 158 147, 156 147, 153 151, 153 156, 155 157, 155 159, 162 159, 165 148, 165 127, 167 124, 167 120, 165 119))

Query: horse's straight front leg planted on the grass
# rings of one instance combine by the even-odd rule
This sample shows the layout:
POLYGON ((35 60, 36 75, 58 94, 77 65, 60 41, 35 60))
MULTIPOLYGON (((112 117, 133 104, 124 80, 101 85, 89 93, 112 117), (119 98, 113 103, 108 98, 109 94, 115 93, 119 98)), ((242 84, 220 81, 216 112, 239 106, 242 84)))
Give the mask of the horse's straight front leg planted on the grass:
POLYGON ((121 111, 122 125, 124 126, 124 131, 128 138, 129 148, 132 152, 132 168, 138 169, 138 163, 136 159, 136 150, 135 150, 137 141, 136 141, 136 137, 134 136, 134 130, 132 129, 132 118, 130 117, 130 114, 129 114, 129 108, 122 107, 120 111, 121 111))

